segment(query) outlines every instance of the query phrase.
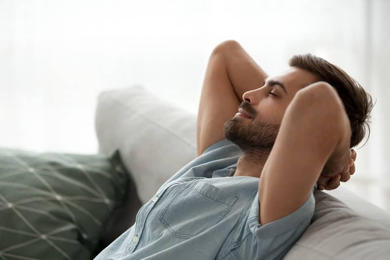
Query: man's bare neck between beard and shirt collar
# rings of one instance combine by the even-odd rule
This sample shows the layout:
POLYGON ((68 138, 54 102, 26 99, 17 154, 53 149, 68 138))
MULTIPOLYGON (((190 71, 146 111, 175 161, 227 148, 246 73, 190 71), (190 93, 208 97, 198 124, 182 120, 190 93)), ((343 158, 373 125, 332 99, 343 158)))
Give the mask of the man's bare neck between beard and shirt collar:
POLYGON ((237 161, 237 168, 233 176, 250 176, 260 178, 261 171, 267 161, 269 152, 264 151, 246 151, 242 152, 237 161))

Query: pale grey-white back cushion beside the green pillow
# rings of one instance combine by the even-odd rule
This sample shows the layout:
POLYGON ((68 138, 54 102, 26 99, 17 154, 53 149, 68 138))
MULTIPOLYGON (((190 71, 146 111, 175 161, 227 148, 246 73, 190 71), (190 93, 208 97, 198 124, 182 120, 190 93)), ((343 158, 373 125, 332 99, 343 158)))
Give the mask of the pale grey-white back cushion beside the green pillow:
POLYGON ((142 204, 196 157, 196 115, 143 86, 101 93, 95 122, 99 152, 119 149, 142 204))

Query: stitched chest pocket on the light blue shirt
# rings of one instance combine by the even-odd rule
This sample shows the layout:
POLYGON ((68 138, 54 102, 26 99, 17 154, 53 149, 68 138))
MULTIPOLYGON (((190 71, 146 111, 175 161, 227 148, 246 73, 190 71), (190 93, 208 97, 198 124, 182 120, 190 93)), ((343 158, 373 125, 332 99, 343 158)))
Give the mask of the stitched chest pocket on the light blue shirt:
POLYGON ((172 236, 179 238, 192 238, 213 227, 238 199, 238 195, 200 180, 182 187, 173 196, 159 221, 172 236))

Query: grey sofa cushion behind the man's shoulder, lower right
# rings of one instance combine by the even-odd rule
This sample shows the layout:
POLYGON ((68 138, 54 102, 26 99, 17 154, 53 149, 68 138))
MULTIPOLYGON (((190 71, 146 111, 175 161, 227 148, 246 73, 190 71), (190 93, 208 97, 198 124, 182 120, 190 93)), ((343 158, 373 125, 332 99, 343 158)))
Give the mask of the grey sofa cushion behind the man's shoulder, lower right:
POLYGON ((285 260, 389 259, 389 221, 367 218, 319 190, 314 198, 312 223, 285 260))

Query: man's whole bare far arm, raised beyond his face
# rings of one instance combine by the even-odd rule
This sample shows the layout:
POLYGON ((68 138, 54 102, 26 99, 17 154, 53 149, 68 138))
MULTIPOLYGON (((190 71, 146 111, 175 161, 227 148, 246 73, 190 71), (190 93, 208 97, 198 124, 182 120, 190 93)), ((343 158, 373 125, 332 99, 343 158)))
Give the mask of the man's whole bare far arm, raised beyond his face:
POLYGON ((267 77, 238 42, 228 40, 215 47, 207 65, 197 114, 198 156, 225 138, 223 125, 237 112, 243 93, 261 87, 267 77))

